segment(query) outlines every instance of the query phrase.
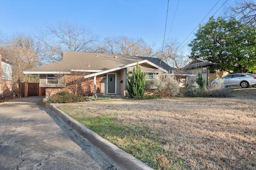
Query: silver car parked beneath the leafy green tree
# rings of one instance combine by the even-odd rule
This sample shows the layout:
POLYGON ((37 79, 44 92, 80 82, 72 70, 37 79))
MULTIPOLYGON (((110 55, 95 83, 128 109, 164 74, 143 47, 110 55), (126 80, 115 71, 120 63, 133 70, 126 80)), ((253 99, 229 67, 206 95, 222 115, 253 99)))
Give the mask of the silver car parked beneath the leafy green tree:
POLYGON ((241 86, 242 88, 248 88, 249 86, 256 87, 256 74, 250 73, 237 73, 229 74, 220 79, 213 80, 212 84, 217 82, 224 83, 224 86, 241 86))

